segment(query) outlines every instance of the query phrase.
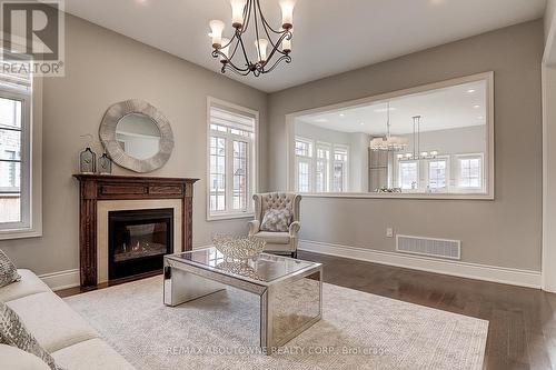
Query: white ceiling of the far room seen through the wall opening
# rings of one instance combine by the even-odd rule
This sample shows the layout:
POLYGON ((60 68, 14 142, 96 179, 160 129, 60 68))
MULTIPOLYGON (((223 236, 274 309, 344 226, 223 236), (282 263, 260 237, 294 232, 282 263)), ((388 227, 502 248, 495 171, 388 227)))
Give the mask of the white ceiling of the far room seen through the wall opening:
MULTIPOLYGON (((486 82, 471 82, 390 100, 390 133, 413 133, 413 117, 421 116, 420 131, 438 131, 486 123, 486 82)), ((387 102, 375 102, 297 119, 341 132, 384 136, 387 102)))

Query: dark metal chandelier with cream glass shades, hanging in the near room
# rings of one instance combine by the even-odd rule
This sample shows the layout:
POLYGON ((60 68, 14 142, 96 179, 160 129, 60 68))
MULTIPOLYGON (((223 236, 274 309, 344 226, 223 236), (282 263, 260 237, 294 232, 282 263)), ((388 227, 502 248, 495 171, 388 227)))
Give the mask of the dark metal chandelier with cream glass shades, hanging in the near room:
POLYGON ((295 0, 281 0, 281 28, 274 29, 260 9, 260 0, 230 0, 231 39, 222 37, 225 22, 211 20, 212 58, 220 59, 221 72, 231 70, 241 76, 256 77, 272 71, 280 62, 291 62, 291 29, 295 0), (255 34, 255 50, 249 52, 247 31, 255 34), (270 47, 270 50, 269 50, 270 47), (255 58, 254 58, 255 57, 255 58), (254 58, 254 59, 252 59, 254 58))

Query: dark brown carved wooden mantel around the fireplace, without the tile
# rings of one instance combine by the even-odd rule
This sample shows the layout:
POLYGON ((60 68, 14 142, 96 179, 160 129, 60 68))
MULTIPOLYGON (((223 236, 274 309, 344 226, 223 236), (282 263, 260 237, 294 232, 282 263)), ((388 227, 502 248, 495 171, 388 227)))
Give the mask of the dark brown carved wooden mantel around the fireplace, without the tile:
POLYGON ((198 179, 73 174, 79 180, 79 262, 81 286, 97 284, 97 202, 181 199, 181 250, 192 249, 193 183, 198 179))

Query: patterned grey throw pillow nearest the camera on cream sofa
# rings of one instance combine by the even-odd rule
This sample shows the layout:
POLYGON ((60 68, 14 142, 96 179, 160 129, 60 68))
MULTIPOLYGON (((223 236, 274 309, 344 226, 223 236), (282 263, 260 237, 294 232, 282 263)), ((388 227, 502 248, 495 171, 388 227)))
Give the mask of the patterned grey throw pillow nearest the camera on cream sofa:
POLYGON ((62 370, 27 330, 19 316, 8 306, 0 302, 0 343, 17 347, 20 350, 37 356, 52 370, 62 370))

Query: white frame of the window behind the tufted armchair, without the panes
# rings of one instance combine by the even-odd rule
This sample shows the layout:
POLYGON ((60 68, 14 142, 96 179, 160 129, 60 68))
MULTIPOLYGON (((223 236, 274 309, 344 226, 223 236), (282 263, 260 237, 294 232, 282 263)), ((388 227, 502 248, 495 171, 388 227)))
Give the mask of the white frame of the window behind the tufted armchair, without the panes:
POLYGON ((207 221, 244 219, 255 216, 255 207, 252 196, 258 191, 259 186, 259 112, 249 108, 245 108, 235 103, 230 103, 212 97, 207 97, 207 174, 206 174, 206 201, 207 201, 207 221), (224 110, 230 110, 236 113, 244 113, 255 119, 254 138, 249 146, 250 160, 248 159, 248 183, 247 183, 247 208, 245 210, 232 210, 234 203, 234 141, 247 141, 249 139, 244 136, 232 134, 230 132, 212 131, 210 129, 210 110, 217 107, 224 110), (226 138, 226 210, 210 210, 210 137, 226 138))

